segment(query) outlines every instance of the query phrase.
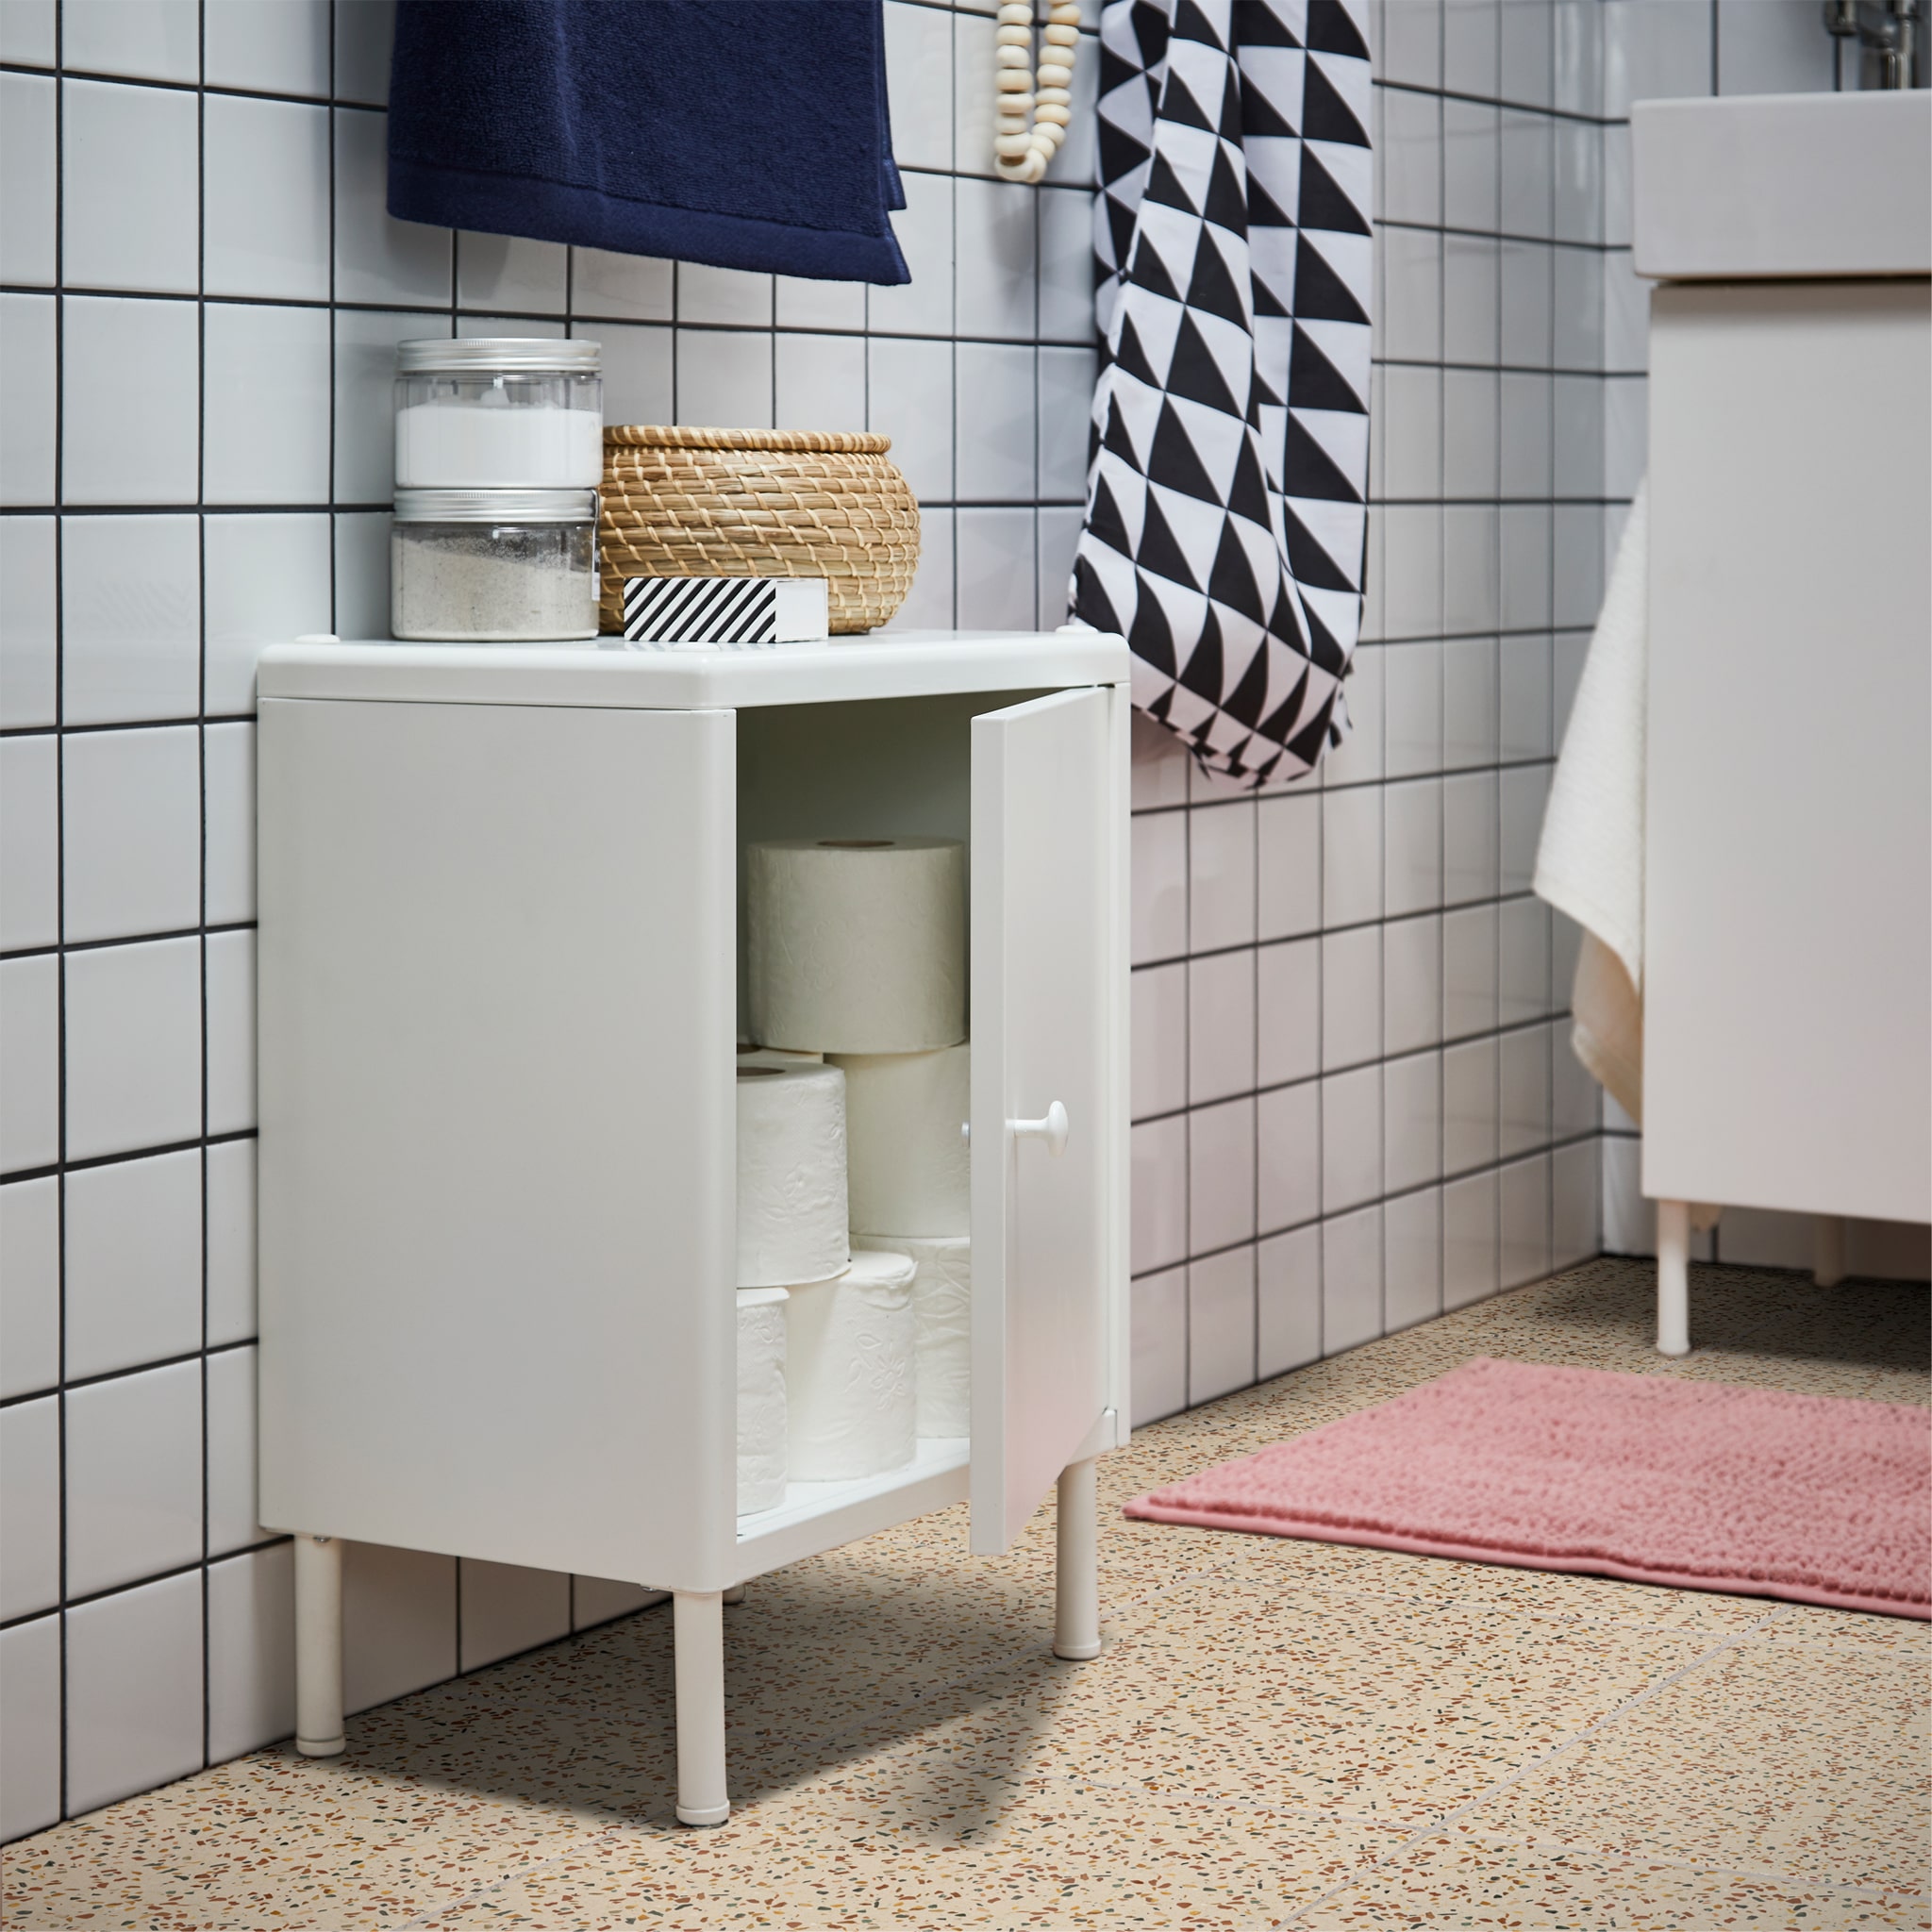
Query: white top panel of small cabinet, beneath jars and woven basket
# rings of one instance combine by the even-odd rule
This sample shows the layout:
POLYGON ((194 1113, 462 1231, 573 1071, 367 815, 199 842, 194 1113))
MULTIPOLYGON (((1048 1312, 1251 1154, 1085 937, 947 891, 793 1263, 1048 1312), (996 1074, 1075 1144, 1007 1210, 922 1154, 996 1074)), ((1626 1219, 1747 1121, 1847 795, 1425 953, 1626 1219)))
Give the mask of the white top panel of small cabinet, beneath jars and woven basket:
POLYGON ((1111 632, 902 630, 763 647, 296 641, 257 667, 261 697, 377 703, 614 705, 707 711, 1124 684, 1111 632))

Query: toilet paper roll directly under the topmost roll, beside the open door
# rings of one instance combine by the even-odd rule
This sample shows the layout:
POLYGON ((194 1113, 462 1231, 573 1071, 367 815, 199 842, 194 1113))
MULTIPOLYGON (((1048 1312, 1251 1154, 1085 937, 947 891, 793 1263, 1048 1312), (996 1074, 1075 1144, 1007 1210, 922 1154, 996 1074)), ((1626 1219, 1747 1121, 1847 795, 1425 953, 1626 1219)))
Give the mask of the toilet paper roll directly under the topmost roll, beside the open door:
POLYGON ((972 1231, 970 1047, 835 1053, 846 1076, 846 1196, 854 1235, 972 1231))

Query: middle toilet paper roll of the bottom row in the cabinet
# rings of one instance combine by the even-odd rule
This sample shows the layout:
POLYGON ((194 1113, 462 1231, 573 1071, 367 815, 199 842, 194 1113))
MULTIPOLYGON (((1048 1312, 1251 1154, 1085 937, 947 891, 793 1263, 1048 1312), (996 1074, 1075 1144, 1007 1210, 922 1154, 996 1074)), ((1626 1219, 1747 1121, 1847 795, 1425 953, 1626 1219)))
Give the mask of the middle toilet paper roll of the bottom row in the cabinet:
POLYGON ((912 1277, 904 1254, 854 1254, 837 1281, 792 1289, 792 1482, 879 1476, 918 1451, 912 1277))

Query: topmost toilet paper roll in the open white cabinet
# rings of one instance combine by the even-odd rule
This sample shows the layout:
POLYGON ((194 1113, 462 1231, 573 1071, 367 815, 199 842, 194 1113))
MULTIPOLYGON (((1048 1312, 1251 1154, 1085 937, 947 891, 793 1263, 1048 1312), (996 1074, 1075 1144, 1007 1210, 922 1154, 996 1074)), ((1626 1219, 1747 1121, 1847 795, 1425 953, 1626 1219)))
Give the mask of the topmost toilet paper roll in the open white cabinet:
POLYGON ((956 838, 773 838, 746 852, 750 1024, 821 1053, 966 1037, 966 848, 956 838))

